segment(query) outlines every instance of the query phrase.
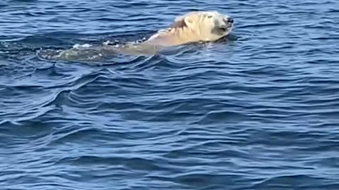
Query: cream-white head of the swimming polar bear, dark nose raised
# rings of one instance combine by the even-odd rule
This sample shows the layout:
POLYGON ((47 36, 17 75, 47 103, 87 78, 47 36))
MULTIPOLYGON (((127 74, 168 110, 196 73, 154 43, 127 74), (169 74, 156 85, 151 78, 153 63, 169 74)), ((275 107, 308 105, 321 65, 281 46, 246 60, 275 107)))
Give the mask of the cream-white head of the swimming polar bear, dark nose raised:
POLYGON ((192 11, 176 18, 170 27, 187 27, 200 41, 211 42, 230 34, 233 19, 217 11, 192 11))

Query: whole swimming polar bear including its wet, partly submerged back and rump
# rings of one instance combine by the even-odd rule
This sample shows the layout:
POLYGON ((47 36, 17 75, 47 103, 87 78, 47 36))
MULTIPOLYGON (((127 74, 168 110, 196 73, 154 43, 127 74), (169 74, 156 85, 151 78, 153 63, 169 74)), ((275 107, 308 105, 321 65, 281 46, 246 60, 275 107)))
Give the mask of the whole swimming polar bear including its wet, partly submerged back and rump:
MULTIPOLYGON (((233 19, 217 11, 192 11, 174 19, 166 30, 153 34, 145 42, 126 45, 81 46, 57 52, 52 58, 76 60, 91 56, 100 58, 103 54, 123 53, 130 55, 153 55, 162 47, 189 44, 192 42, 213 42, 227 36, 232 31, 233 19), (92 54, 95 54, 93 56, 92 54)), ((45 56, 46 57, 46 56, 45 56)), ((47 57, 51 57, 47 55, 47 57)))

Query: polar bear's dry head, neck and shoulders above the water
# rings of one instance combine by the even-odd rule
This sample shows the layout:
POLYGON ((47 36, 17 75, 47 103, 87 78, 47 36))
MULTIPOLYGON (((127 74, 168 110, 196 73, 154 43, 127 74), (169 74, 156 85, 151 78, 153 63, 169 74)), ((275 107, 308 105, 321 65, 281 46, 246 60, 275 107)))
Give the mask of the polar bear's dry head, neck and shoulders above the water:
POLYGON ((160 30, 142 44, 176 46, 191 42, 213 42, 232 31, 234 20, 217 11, 191 11, 174 19, 167 30, 160 30))

